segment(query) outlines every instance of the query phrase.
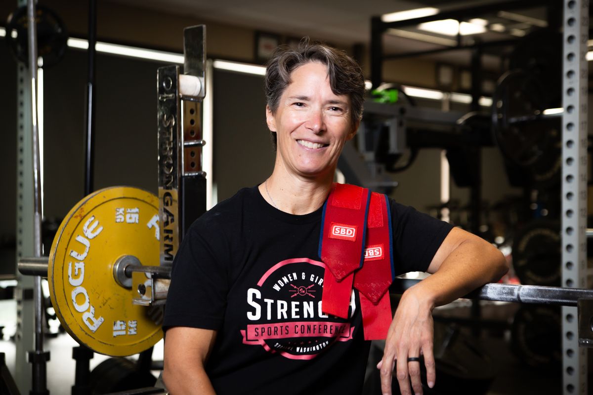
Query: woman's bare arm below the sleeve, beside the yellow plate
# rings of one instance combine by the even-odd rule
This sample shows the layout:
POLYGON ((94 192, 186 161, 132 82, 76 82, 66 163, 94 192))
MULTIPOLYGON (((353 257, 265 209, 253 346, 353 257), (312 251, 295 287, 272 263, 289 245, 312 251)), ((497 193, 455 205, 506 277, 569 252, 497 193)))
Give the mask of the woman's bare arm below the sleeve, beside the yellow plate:
POLYGON ((171 395, 215 394, 204 370, 216 331, 176 326, 167 330, 162 379, 171 395))

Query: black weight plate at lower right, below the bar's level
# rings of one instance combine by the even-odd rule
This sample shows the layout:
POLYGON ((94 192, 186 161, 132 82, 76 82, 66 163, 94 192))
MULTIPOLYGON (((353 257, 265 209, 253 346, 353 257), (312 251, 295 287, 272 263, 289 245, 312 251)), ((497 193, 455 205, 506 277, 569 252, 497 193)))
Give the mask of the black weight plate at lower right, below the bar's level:
POLYGON ((556 368, 562 362, 560 309, 552 306, 522 306, 511 330, 512 351, 534 368, 556 368))

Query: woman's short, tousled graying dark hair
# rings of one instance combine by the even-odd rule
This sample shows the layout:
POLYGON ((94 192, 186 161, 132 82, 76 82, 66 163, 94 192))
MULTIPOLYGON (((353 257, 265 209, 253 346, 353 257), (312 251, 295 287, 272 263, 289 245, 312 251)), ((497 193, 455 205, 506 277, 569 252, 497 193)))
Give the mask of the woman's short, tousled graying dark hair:
MULTIPOLYGON (((345 52, 320 42, 311 43, 305 37, 298 48, 280 46, 267 62, 266 104, 272 114, 278 110, 278 102, 286 86, 291 83, 291 73, 299 66, 310 62, 320 62, 327 66, 331 91, 336 95, 350 98, 350 120, 355 126, 362 118, 362 104, 365 95, 365 78, 361 67, 345 52)), ((276 133, 272 133, 272 143, 276 148, 276 133)))

